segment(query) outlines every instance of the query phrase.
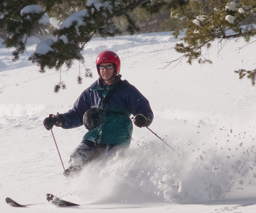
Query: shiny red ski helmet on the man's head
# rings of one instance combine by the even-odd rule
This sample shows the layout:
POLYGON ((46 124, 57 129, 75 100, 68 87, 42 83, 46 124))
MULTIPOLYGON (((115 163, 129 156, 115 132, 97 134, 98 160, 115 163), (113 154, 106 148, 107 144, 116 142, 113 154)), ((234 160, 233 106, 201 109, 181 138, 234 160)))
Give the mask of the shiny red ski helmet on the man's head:
POLYGON ((116 67, 116 74, 119 75, 121 62, 116 53, 114 53, 113 51, 107 50, 107 51, 101 52, 98 55, 96 59, 96 67, 99 75, 100 75, 100 69, 98 67, 98 64, 101 64, 101 63, 114 63, 116 67))

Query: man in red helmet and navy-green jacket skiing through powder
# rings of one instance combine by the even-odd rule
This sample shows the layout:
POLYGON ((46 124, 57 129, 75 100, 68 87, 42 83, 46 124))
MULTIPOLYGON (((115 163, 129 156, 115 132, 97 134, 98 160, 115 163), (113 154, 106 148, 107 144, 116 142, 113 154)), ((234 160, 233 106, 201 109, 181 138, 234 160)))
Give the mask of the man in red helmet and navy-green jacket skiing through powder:
POLYGON ((108 151, 129 147, 133 125, 149 126, 153 112, 148 100, 126 80, 121 80, 120 59, 103 51, 96 59, 99 78, 82 92, 71 110, 44 119, 47 130, 53 126, 71 129, 84 125, 89 131, 69 156, 65 176, 80 172, 82 166, 108 151))

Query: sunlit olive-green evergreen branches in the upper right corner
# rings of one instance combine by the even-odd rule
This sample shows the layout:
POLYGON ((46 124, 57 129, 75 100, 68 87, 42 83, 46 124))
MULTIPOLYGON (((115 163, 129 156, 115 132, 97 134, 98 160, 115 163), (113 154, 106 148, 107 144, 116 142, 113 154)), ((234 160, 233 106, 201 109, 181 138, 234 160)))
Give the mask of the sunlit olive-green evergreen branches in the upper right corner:
MULTIPOLYGON (((175 47, 175 50, 183 55, 174 61, 187 58, 189 64, 194 60, 200 64, 212 63, 203 56, 201 50, 210 49, 215 39, 218 39, 221 49, 226 39, 243 37, 250 44, 251 38, 256 34, 255 12, 255 0, 198 0, 177 7, 172 13, 179 18, 179 27, 174 35, 177 38, 180 32, 185 30, 185 37, 182 37, 181 43, 177 43, 175 47)), ((168 62, 166 67, 174 61, 168 62)), ((252 85, 255 85, 256 69, 239 69, 234 72, 239 74, 240 79, 247 76, 252 85)))

